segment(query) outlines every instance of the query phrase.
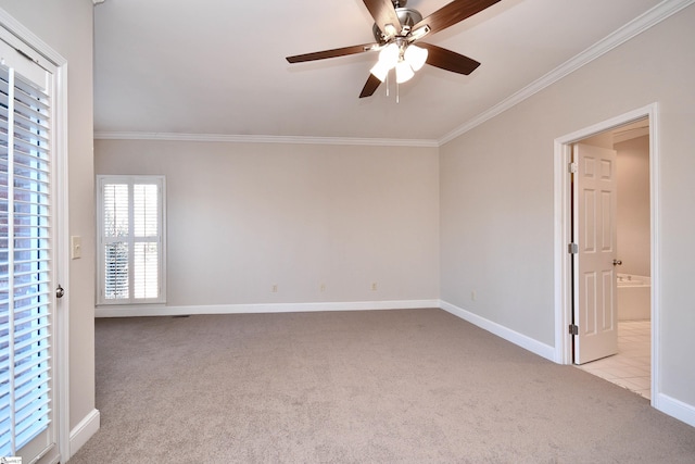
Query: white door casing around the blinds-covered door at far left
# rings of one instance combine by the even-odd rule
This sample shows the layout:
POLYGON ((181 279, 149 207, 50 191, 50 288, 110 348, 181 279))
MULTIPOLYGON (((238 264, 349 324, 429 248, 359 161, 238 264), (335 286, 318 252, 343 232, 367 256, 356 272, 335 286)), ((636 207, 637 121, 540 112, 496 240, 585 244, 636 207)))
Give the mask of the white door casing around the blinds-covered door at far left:
POLYGON ((71 457, 70 450, 70 214, 68 214, 68 124, 67 124, 67 60, 41 38, 0 8, 0 28, 5 29, 28 46, 55 67, 53 76, 53 150, 52 150, 52 200, 55 238, 54 284, 66 289, 61 299, 54 299, 53 327, 54 359, 53 375, 58 391, 53 392, 56 447, 61 461, 71 457))

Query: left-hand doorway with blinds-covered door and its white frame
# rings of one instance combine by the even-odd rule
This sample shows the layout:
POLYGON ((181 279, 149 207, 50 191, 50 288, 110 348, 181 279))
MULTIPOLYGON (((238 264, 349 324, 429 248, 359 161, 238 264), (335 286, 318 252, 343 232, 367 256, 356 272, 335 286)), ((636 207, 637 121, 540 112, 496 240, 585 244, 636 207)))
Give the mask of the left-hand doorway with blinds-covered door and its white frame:
POLYGON ((68 455, 66 63, 0 9, 0 456, 68 455))

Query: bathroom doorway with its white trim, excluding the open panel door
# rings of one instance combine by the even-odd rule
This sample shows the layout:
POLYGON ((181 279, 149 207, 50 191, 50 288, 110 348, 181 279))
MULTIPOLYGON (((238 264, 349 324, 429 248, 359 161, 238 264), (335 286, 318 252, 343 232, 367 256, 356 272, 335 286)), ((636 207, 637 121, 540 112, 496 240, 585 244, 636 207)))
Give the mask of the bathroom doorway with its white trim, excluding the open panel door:
MULTIPOLYGON (((555 140, 556 360, 564 364, 582 364, 578 367, 649 399, 658 394, 659 369, 656 337, 659 308, 655 296, 659 290, 658 224, 655 221, 659 204, 656 115, 655 103, 555 140), (603 298, 604 303, 615 296, 615 311, 606 313, 610 318, 595 313, 593 321, 592 315, 576 314, 576 309, 581 308, 578 304, 580 243, 576 240, 579 227, 584 224, 580 223, 579 195, 573 183, 578 166, 572 161, 574 146, 580 142, 619 153, 615 162, 616 171, 619 171, 619 200, 615 215, 608 221, 616 231, 614 265, 604 266, 596 273, 605 283, 612 280, 615 286, 606 285, 606 289, 610 289, 606 293, 603 289, 593 293, 603 298), (642 297, 646 293, 646 298, 639 293, 643 293, 642 297), (576 355, 579 348, 576 334, 583 329, 584 335, 591 335, 593 330, 587 328, 587 322, 615 327, 617 348, 614 352, 617 354, 608 350, 606 354, 576 355)), ((602 168, 606 165, 604 163, 602 168)), ((586 288, 582 291, 585 297, 586 288)), ((604 305, 611 309, 610 303, 604 305)), ((592 304, 585 306, 594 309, 592 304)))

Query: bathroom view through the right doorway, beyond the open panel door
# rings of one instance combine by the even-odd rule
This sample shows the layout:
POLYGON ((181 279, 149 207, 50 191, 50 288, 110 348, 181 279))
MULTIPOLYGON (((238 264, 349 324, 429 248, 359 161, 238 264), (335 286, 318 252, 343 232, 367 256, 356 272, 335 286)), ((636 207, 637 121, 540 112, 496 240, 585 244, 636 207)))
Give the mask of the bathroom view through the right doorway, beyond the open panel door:
MULTIPOLYGON (((611 251, 605 276, 610 276, 612 294, 610 304, 616 305, 614 318, 605 318, 605 325, 615 328, 615 346, 597 359, 581 360, 577 350, 573 362, 591 374, 620 385, 647 399, 652 398, 652 298, 650 298, 650 195, 649 195, 649 121, 647 117, 618 126, 587 137, 574 145, 601 149, 615 160, 615 206, 612 217, 606 218, 605 230, 614 235, 611 251), (610 268, 612 267, 612 268, 610 268)), ((576 161, 574 161, 576 162, 576 161)), ((604 193, 606 193, 604 191, 604 193)), ((582 202, 574 202, 583 208, 582 202)), ((579 221, 574 229, 585 230, 587 216, 580 211, 572 214, 579 221)), ((580 243, 581 249, 581 243, 580 243)), ((581 263, 581 252, 578 261, 581 263)), ((581 264, 580 264, 581 266, 581 264)), ((582 300, 585 290, 582 279, 577 290, 582 300)), ((608 279, 607 279, 608 280, 608 279)), ((573 324, 578 324, 573 321, 573 324)), ((581 322, 579 323, 581 325, 581 322)), ((596 325, 601 324, 596 322, 596 325)), ((586 351, 586 350, 584 350, 586 351)))

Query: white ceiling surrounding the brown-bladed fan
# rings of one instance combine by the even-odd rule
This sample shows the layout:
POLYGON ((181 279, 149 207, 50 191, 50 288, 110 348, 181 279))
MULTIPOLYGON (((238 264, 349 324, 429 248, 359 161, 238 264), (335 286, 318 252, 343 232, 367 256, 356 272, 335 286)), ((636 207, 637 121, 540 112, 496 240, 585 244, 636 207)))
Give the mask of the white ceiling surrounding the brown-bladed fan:
MULTIPOLYGON (((409 0, 427 16, 448 0, 409 0)), ((94 130, 437 142, 661 0, 502 0, 425 41, 482 65, 425 66, 357 98, 377 53, 361 0, 106 0, 94 8, 94 130)))

